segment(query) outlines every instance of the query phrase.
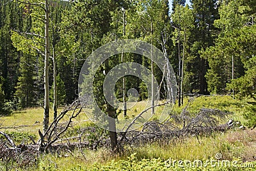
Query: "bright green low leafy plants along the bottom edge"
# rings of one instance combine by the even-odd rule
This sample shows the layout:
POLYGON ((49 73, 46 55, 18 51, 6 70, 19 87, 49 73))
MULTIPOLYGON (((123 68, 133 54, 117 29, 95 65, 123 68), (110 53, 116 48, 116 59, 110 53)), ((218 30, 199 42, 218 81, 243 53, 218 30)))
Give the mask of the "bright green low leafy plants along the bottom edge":
MULTIPOLYGON (((212 160, 216 162, 216 159, 211 158, 208 160, 208 162, 212 160)), ((172 159, 170 160, 163 160, 161 158, 152 158, 152 159, 143 159, 138 160, 136 158, 136 153, 131 154, 131 156, 127 157, 127 160, 119 160, 119 161, 111 161, 107 163, 106 165, 103 165, 101 163, 94 163, 92 167, 81 167, 78 166, 76 168, 68 169, 68 171, 85 171, 85 170, 241 170, 241 164, 243 161, 240 159, 234 159, 236 162, 236 165, 230 165, 228 166, 222 166, 217 165, 217 162, 215 165, 208 164, 204 165, 204 167, 188 167, 189 165, 186 165, 185 163, 178 163, 179 160, 175 160, 177 163, 173 165, 172 159)), ((193 161, 191 161, 193 163, 193 161)), ((214 163, 213 162, 213 163, 214 163)), ((221 161, 219 161, 221 163, 221 161)), ((202 163, 206 163, 206 160, 203 160, 202 163)), ((210 163, 210 162, 209 162, 210 163)), ((230 161, 232 163, 232 161, 230 161)), ((255 165, 255 162, 248 162, 246 164, 255 165)), ((196 166, 196 165, 195 165, 196 166)), ((242 165, 243 166, 243 165, 242 165)), ((244 170, 252 170, 252 168, 243 168, 244 170)))

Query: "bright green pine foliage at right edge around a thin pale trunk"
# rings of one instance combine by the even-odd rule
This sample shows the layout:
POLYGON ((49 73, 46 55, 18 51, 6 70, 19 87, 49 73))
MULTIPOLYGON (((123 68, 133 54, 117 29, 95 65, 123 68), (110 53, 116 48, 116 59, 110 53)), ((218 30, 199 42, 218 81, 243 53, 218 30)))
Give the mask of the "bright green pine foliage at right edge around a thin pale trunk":
POLYGON ((211 93, 227 93, 235 89, 240 98, 253 96, 255 85, 255 26, 233 29, 216 40, 214 47, 202 54, 209 61, 211 70, 207 71, 207 83, 211 93), (234 78, 232 80, 232 58, 234 59, 234 78), (244 71, 246 74, 244 75, 244 71), (243 76, 244 75, 244 76, 243 76), (242 77, 243 76, 243 77, 242 77))

